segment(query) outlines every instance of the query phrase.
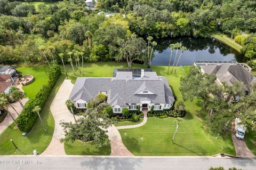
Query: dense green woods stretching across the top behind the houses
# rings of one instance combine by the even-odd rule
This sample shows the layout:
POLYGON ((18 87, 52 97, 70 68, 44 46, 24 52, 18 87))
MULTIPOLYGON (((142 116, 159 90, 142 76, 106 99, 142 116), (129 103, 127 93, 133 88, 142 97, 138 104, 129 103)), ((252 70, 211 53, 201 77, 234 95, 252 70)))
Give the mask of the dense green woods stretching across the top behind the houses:
POLYGON ((220 31, 243 46, 255 67, 255 30, 252 0, 98 0, 95 10, 82 0, 38 6, 0 0, 0 63, 61 63, 59 54, 65 63, 126 61, 125 55, 148 63, 138 49, 152 48, 149 36, 209 37, 220 31), (101 11, 116 14, 105 17, 101 11), (137 52, 125 52, 128 47, 137 52))

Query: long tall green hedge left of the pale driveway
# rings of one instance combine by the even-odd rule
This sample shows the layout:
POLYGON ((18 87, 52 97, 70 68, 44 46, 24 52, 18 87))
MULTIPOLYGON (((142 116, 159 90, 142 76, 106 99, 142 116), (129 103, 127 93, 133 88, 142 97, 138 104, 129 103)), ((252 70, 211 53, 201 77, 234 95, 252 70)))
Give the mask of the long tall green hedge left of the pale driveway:
POLYGON ((37 92, 35 98, 31 99, 26 104, 20 116, 17 118, 18 128, 21 132, 29 132, 33 128, 38 118, 37 113, 33 112, 33 109, 35 108, 35 106, 39 106, 42 110, 60 74, 60 66, 52 66, 48 73, 49 81, 47 82, 47 84, 43 85, 43 87, 37 92))

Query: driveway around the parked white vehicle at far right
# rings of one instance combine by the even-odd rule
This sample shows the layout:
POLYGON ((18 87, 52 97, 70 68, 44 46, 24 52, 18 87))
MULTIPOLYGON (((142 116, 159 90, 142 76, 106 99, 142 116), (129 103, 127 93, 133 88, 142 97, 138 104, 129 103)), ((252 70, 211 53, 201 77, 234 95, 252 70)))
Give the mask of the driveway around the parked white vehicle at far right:
MULTIPOLYGON (((236 156, 254 156, 253 153, 247 148, 245 140, 239 140, 235 136, 235 121, 232 122, 232 132, 231 132, 232 140, 234 143, 234 147, 236 150, 236 156)), ((245 133, 246 137, 246 133, 245 133)))

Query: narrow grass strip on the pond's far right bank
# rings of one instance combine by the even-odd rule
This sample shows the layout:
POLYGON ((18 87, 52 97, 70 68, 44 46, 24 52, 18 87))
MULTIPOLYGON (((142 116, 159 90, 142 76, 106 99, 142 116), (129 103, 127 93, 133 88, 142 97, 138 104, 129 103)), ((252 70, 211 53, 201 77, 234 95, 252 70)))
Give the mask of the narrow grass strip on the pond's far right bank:
POLYGON ((227 37, 221 33, 215 33, 211 35, 213 38, 218 39, 222 43, 229 45, 230 47, 234 48, 236 51, 241 52, 242 46, 237 44, 234 39, 227 37))

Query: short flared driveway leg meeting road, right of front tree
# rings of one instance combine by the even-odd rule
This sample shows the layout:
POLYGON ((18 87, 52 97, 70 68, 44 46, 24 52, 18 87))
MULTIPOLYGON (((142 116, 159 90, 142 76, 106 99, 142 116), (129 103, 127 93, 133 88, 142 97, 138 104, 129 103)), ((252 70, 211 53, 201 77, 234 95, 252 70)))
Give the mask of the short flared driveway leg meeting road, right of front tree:
POLYGON ((117 128, 112 125, 107 130, 107 135, 111 145, 110 156, 133 156, 132 153, 125 147, 117 128))

